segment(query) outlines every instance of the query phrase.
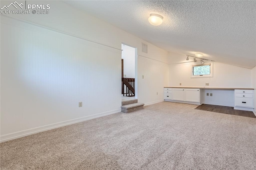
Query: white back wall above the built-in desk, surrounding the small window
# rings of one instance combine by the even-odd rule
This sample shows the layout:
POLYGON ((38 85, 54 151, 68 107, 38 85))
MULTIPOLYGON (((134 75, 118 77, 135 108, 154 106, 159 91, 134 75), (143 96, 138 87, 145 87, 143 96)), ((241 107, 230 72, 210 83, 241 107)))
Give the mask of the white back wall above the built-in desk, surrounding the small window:
MULTIPOLYGON (((197 61, 199 64, 199 62, 197 61)), ((207 62, 205 62, 207 63, 207 62)), ((170 64, 170 86, 252 87, 251 69, 213 62, 213 77, 191 77, 192 64, 170 64)))

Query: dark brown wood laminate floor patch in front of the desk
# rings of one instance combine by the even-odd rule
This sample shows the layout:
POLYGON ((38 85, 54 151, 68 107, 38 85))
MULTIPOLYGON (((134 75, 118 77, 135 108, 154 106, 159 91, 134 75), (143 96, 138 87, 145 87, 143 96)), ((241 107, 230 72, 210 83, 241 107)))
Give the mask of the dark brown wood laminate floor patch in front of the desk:
POLYGON ((216 113, 225 113, 225 114, 229 114, 229 115, 237 115, 237 116, 256 118, 256 116, 254 115, 253 112, 234 110, 234 107, 202 104, 202 105, 196 107, 195 109, 216 112, 216 113))

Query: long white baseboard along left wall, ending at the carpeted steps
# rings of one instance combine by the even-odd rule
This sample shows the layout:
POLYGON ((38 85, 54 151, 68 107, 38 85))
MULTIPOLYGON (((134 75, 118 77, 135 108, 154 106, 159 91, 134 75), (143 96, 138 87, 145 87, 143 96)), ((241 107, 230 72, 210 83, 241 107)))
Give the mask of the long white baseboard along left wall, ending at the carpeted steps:
POLYGON ((64 126, 67 126, 67 125, 72 125, 72 124, 75 124, 75 123, 80 123, 80 122, 88 121, 90 119, 95 119, 95 118, 98 118, 98 117, 112 115, 114 113, 119 113, 119 112, 121 112, 121 109, 117 109, 117 110, 114 110, 114 111, 108 111, 108 112, 104 112, 104 113, 98 113, 98 114, 95 114, 95 115, 85 116, 85 117, 81 117, 81 118, 77 118, 77 119, 71 119, 71 120, 68 120, 68 121, 63 121, 63 122, 54 123, 54 124, 50 124, 50 125, 45 125, 45 126, 41 126, 41 127, 30 128, 30 129, 22 130, 22 131, 19 131, 19 132, 5 134, 5 135, 0 136, 0 142, 6 142, 8 140, 21 138, 21 137, 24 137, 24 136, 28 136, 30 134, 35 134, 35 133, 43 132, 43 131, 46 131, 46 130, 51 130, 51 129, 54 129, 54 128, 64 127, 64 126))

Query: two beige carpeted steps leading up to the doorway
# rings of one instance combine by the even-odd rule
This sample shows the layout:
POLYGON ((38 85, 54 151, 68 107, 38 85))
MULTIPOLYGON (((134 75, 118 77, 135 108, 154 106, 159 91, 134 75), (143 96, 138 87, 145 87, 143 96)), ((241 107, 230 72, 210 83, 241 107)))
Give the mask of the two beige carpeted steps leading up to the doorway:
POLYGON ((138 99, 122 99, 121 110, 123 113, 130 113, 143 109, 144 103, 138 103, 138 99))

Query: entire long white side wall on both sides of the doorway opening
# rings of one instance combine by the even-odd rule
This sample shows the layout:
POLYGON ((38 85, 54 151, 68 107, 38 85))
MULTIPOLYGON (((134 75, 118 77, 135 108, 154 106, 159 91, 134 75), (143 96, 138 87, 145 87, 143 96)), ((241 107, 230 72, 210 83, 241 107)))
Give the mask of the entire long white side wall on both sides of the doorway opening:
POLYGON ((152 78, 138 79, 138 100, 163 99, 148 93, 168 85, 168 66, 159 64, 168 62, 166 51, 64 2, 30 3, 49 3, 50 14, 1 15, 1 141, 120 111, 122 42, 144 56, 138 75, 152 78))

